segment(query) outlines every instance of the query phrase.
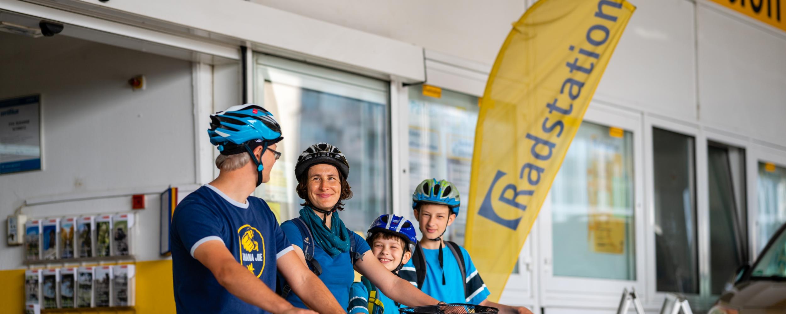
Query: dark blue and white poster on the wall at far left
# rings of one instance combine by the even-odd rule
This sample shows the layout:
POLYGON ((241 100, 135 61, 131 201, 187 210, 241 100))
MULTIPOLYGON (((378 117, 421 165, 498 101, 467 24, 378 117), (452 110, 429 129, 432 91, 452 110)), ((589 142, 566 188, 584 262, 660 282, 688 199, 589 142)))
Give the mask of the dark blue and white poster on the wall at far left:
POLYGON ((0 100, 0 174, 41 169, 41 96, 0 100))

